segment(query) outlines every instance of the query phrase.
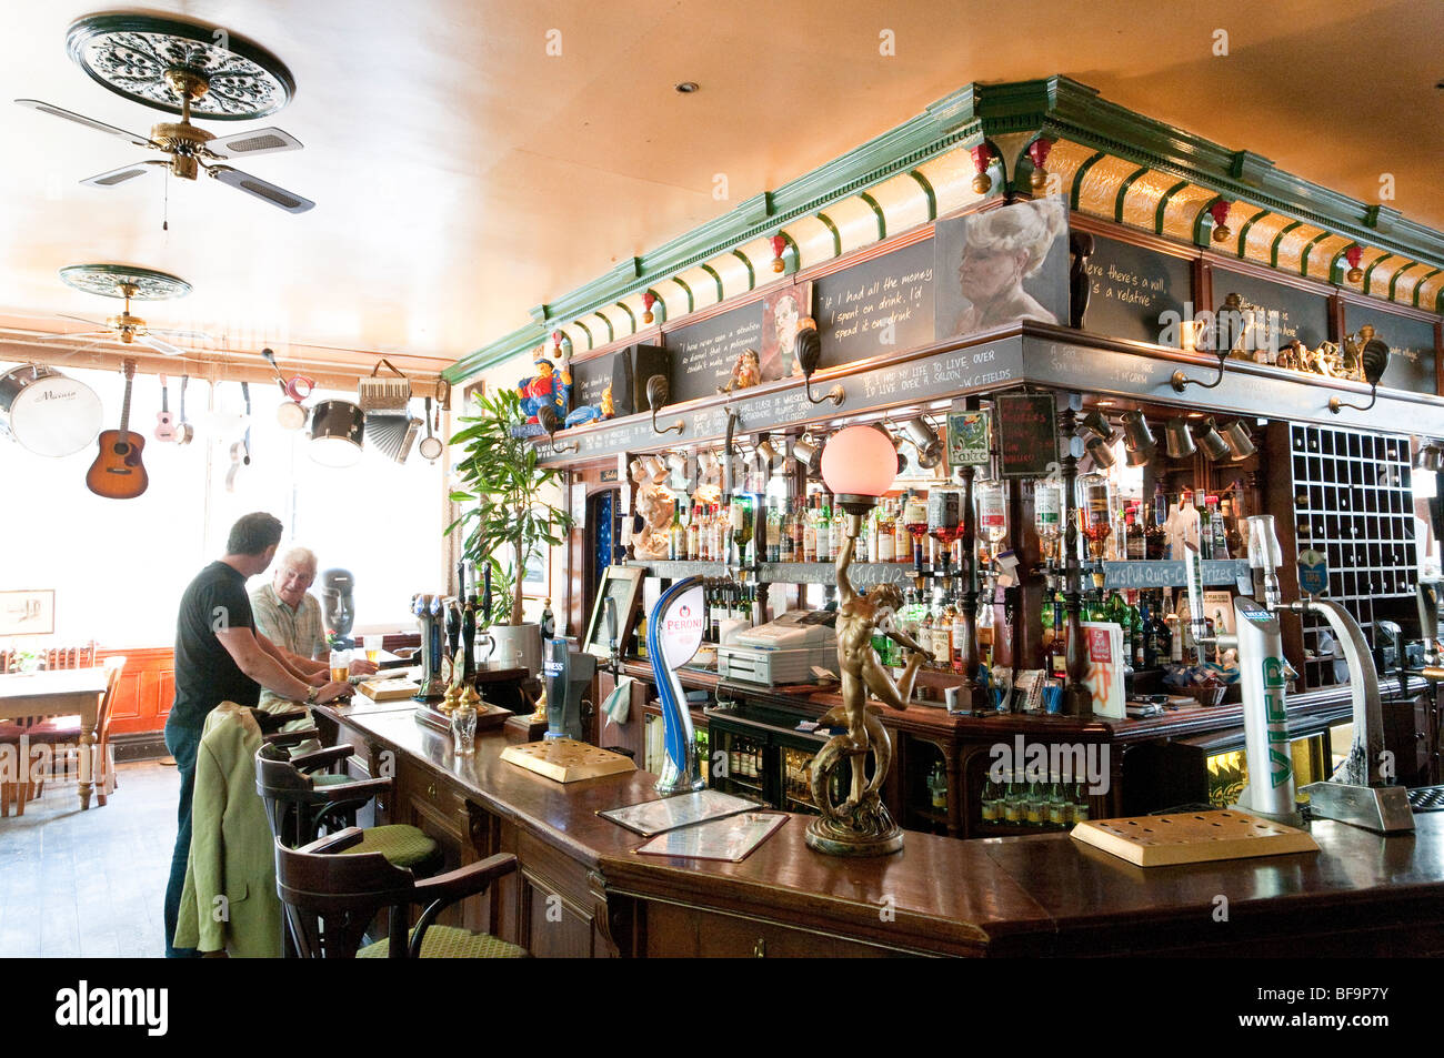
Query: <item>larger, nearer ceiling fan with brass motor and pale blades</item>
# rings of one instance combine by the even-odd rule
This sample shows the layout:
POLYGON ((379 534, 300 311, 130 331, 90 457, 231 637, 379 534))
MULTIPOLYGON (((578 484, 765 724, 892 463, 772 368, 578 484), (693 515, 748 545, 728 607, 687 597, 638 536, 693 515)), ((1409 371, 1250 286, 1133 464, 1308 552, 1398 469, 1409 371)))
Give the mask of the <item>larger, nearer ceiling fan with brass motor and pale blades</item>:
POLYGON ((75 121, 77 124, 94 128, 98 133, 117 136, 137 147, 159 150, 169 156, 169 159, 165 160, 149 159, 146 162, 121 166, 120 169, 111 169, 110 172, 97 173, 95 176, 81 180, 81 183, 91 188, 114 188, 137 176, 146 175, 155 166, 165 166, 173 176, 179 176, 183 180, 193 180, 204 169, 209 176, 221 183, 244 191, 247 195, 253 195, 261 202, 269 202, 270 205, 284 209, 289 214, 303 214, 316 205, 308 198, 302 198, 300 195, 289 192, 284 188, 277 188, 274 183, 267 183, 266 180, 251 176, 250 173, 243 173, 240 169, 232 169, 228 165, 218 165, 225 159, 241 156, 248 157, 253 154, 276 154, 284 150, 300 150, 300 140, 290 133, 274 127, 256 128, 245 133, 232 133, 217 139, 204 128, 191 124, 191 104, 209 91, 209 78, 198 69, 173 66, 165 71, 165 82, 170 87, 170 91, 179 97, 180 120, 160 121, 152 126, 149 137, 139 136, 137 133, 127 133, 124 128, 117 128, 113 124, 98 121, 92 117, 85 117, 84 114, 77 114, 42 100, 16 100, 16 102, 22 107, 38 110, 42 114, 62 117, 66 121, 75 121))

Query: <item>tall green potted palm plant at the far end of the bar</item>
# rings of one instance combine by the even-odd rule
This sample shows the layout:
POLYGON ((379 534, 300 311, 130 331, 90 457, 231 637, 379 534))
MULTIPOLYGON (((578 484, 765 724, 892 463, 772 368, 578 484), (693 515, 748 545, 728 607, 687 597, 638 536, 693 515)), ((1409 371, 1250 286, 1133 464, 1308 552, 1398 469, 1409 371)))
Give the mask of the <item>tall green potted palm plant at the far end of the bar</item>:
POLYGON ((523 621, 521 585, 527 564, 572 528, 570 515, 543 499, 547 486, 562 484, 562 472, 539 466, 536 446, 514 434, 524 420, 514 390, 478 395, 474 410, 451 439, 464 452, 451 498, 464 510, 446 534, 465 530, 462 554, 491 570, 491 658, 510 664, 520 651, 526 667, 540 673, 542 626, 523 621))

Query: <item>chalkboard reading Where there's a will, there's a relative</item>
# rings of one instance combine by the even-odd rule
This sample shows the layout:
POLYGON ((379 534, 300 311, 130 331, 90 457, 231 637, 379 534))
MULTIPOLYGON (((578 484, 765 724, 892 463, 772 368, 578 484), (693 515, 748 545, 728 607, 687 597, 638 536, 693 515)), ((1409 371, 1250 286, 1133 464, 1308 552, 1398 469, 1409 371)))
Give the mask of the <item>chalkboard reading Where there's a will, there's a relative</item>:
POLYGON ((1145 250, 1116 238, 1093 237, 1087 258, 1089 302, 1083 329, 1132 342, 1178 346, 1164 342, 1165 328, 1158 315, 1183 318, 1184 303, 1193 302, 1193 268, 1188 261, 1157 250, 1145 250))

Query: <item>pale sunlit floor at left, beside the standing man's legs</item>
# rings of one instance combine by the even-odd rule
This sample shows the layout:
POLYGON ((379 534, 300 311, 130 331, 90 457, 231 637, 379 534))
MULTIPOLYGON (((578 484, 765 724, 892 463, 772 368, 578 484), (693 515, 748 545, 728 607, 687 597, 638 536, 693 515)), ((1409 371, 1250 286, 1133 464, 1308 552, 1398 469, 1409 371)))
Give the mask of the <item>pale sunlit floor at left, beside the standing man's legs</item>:
POLYGON ((0 957, 159 958, 175 768, 116 769, 104 808, 81 811, 75 785, 46 785, 25 816, 0 818, 0 957))

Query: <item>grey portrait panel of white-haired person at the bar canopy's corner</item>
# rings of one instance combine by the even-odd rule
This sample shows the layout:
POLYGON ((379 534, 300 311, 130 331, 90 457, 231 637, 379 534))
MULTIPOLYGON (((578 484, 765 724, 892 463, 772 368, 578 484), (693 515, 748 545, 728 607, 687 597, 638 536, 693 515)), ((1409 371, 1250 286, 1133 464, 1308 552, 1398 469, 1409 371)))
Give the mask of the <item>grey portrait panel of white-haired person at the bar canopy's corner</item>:
POLYGON ((939 341, 1031 319, 1069 319, 1069 206, 1061 196, 939 221, 939 341))

